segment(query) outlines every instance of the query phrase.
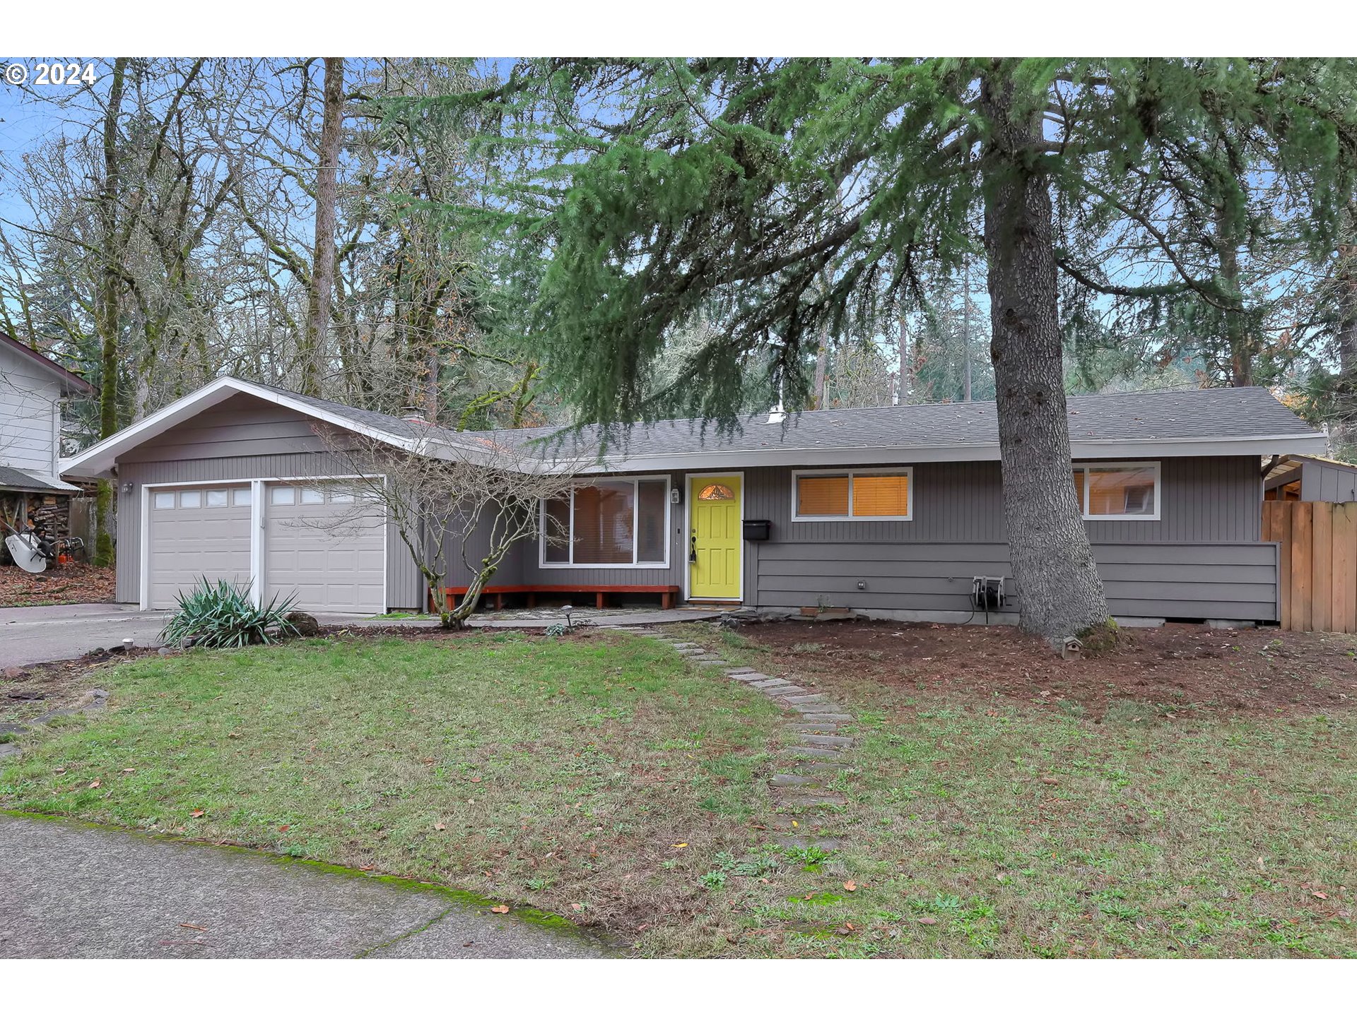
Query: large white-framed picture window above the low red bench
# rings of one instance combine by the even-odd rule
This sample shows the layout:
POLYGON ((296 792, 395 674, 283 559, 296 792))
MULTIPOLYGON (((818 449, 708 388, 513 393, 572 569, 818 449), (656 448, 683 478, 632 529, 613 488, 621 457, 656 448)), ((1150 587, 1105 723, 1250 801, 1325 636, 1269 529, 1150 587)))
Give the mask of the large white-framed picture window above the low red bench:
POLYGON ((669 477, 609 477, 541 504, 544 568, 669 564, 669 477))

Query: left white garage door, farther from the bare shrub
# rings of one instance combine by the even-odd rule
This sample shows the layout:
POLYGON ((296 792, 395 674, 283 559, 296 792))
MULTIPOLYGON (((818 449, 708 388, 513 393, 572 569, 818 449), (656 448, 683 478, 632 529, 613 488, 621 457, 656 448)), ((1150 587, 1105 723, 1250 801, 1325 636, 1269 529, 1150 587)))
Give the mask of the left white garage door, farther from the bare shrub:
POLYGON ((155 488, 147 495, 147 602, 175 607, 202 578, 250 584, 250 485, 155 488))

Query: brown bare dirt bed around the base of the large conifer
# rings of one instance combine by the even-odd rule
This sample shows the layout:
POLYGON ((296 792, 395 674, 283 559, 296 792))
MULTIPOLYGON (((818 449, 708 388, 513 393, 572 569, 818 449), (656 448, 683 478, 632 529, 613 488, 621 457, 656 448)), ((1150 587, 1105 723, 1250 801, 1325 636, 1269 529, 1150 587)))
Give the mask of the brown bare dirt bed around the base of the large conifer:
POLYGON ((1357 708, 1357 637, 1335 633, 1125 629, 1117 650, 1076 662, 1010 626, 859 621, 759 625, 742 635, 799 675, 848 674, 1052 706, 1075 702, 1094 719, 1125 701, 1163 706, 1159 713, 1357 708))

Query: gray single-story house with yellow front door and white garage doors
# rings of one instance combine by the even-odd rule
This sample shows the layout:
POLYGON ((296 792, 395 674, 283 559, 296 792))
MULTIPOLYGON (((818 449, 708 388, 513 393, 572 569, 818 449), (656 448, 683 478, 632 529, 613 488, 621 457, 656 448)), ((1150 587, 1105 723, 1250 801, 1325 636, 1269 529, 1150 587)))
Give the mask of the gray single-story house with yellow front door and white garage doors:
MULTIPOLYGON (((225 575, 262 576, 265 593, 296 590, 313 609, 422 607, 427 591, 392 527, 345 545, 286 525, 331 511, 303 483, 337 469, 318 422, 394 445, 414 427, 429 433, 221 378, 65 461, 68 477, 118 480, 118 599, 167 607, 195 576, 225 575)), ((1115 616, 1278 617, 1259 462, 1323 453, 1323 434, 1261 388, 1071 396, 1069 431, 1072 483, 1115 616)), ((516 548, 497 584, 677 587, 688 601, 923 620, 966 620, 976 576, 1007 580, 1010 620, 1022 595, 992 403, 754 418, 734 435, 666 420, 631 428, 588 472, 569 503, 541 509, 571 542, 516 548)))

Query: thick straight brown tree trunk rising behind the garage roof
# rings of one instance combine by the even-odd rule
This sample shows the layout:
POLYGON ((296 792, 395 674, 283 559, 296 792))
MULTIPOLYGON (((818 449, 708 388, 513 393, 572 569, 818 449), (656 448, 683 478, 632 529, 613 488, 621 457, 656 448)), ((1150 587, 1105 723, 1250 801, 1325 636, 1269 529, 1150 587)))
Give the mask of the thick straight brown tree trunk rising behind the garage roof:
POLYGON ((343 57, 326 57, 326 84, 316 163, 316 240, 311 259, 307 332, 301 346, 301 392, 320 395, 320 363, 330 334, 330 304, 335 286, 335 203, 339 141, 343 126, 343 57))

